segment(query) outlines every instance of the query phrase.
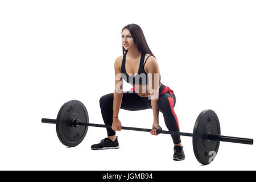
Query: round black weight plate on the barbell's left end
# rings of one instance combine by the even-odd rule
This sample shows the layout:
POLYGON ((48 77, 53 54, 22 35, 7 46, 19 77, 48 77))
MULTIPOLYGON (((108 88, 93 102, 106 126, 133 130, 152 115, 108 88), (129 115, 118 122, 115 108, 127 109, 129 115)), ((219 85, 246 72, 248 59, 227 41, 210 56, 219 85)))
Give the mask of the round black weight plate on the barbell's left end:
POLYGON ((72 100, 66 102, 57 115, 56 130, 60 142, 68 147, 75 147, 84 139, 88 126, 73 127, 73 119, 89 123, 86 107, 82 102, 72 100))

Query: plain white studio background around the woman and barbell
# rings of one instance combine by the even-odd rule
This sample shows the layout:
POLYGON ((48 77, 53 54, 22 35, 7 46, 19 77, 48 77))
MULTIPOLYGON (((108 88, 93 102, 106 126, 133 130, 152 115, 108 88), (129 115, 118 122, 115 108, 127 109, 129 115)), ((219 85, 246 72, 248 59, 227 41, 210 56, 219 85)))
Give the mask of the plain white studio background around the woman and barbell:
MULTIPOLYGON (((255 139, 255 9, 255 1, 1 1, 0 169, 255 169, 255 144, 221 142, 216 159, 200 166, 191 137, 181 137, 186 159, 175 162, 169 135, 123 130, 119 150, 92 151, 105 129, 90 127, 67 148, 54 125, 41 123, 74 99, 91 123, 103 123, 99 100, 114 91, 121 30, 135 23, 176 94, 181 131, 192 133, 200 112, 212 109, 221 134, 255 139)), ((153 114, 120 110, 119 119, 151 128, 153 114)), ((159 120, 167 130, 162 113, 159 120)))

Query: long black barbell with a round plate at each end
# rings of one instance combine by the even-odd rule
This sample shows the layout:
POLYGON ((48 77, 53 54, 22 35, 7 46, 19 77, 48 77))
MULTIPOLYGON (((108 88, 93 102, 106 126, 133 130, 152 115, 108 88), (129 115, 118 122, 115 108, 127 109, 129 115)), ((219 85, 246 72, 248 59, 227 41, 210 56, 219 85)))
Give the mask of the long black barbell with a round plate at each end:
MULTIPOLYGON (((57 136, 61 143, 75 147, 82 142, 88 131, 88 126, 111 128, 111 125, 89 123, 89 115, 82 102, 71 100, 61 106, 57 119, 42 119, 42 123, 56 124, 57 136)), ((137 127, 122 126, 122 130, 146 131, 137 127)), ((157 133, 192 137, 193 151, 201 164, 209 164, 215 158, 221 142, 253 144, 253 139, 223 136, 220 122, 213 110, 203 110, 196 119, 193 133, 157 130, 157 133)))

